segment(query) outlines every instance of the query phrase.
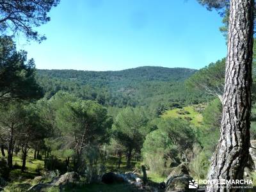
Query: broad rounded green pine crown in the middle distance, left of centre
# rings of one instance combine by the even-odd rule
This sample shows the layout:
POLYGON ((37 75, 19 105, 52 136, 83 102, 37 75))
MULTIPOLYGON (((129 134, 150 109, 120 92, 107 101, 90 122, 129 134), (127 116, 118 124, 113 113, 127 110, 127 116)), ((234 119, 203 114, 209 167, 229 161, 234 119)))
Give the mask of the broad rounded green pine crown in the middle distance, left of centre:
POLYGON ((112 122, 107 109, 90 100, 67 102, 63 108, 58 109, 56 120, 63 136, 84 140, 83 145, 107 141, 108 128, 112 122))

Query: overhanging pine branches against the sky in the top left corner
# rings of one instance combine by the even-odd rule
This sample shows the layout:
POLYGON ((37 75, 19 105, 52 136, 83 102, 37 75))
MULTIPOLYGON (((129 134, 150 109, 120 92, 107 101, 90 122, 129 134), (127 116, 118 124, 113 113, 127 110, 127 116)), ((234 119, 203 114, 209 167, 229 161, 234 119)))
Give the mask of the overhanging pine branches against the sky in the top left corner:
POLYGON ((1 33, 19 36, 22 33, 26 38, 37 40, 45 39, 35 31, 35 27, 45 24, 50 20, 47 13, 52 6, 56 6, 60 0, 47 1, 0 1, 0 30, 1 33))

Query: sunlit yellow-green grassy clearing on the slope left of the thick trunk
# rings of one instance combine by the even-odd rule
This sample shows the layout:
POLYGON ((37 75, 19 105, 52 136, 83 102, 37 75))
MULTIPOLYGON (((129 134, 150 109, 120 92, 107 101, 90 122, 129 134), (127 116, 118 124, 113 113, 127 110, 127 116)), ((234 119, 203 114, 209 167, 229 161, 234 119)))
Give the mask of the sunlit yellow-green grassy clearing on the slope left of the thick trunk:
POLYGON ((162 117, 174 117, 174 118, 182 118, 184 120, 188 120, 192 124, 196 126, 200 126, 203 120, 203 116, 200 112, 196 111, 198 108, 204 108, 202 105, 193 105, 193 106, 186 106, 182 109, 172 109, 166 111, 162 117))

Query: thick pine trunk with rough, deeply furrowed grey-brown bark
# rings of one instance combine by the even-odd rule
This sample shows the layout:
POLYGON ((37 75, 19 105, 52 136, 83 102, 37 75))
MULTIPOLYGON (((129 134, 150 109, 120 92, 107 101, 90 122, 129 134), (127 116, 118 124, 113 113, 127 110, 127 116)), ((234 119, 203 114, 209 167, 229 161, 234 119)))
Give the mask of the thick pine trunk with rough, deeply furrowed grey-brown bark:
MULTIPOLYGON (((221 136, 208 179, 243 179, 250 147, 253 0, 230 0, 221 136)), ((241 189, 237 189, 239 191, 241 189)), ((236 191, 209 184, 207 192, 236 191)))

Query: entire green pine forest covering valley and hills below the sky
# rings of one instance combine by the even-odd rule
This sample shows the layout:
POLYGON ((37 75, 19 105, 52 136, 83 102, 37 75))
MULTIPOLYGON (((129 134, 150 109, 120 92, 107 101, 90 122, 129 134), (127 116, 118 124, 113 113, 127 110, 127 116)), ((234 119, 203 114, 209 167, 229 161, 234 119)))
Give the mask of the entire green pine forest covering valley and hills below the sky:
MULTIPOLYGON (((99 175, 134 169, 142 174, 141 166, 148 188, 177 173, 185 174, 181 180, 205 179, 220 136, 225 59, 200 70, 36 70, 26 52, 17 52, 10 42, 11 38, 1 38, 3 49, 8 47, 3 52, 5 68, 15 70, 12 76, 10 70, 2 73, 12 79, 12 84, 3 81, 1 91, 1 174, 10 182, 4 189, 21 188, 12 183, 21 174, 26 189, 38 191, 29 178, 42 175, 33 182, 44 184, 66 172, 78 174, 84 181, 77 183, 94 188, 90 184, 97 183, 99 175), (20 85, 24 88, 17 92, 20 85), (53 176, 47 176, 50 173, 53 176)), ((43 185, 42 190, 70 190, 69 184, 63 186, 43 185)))

